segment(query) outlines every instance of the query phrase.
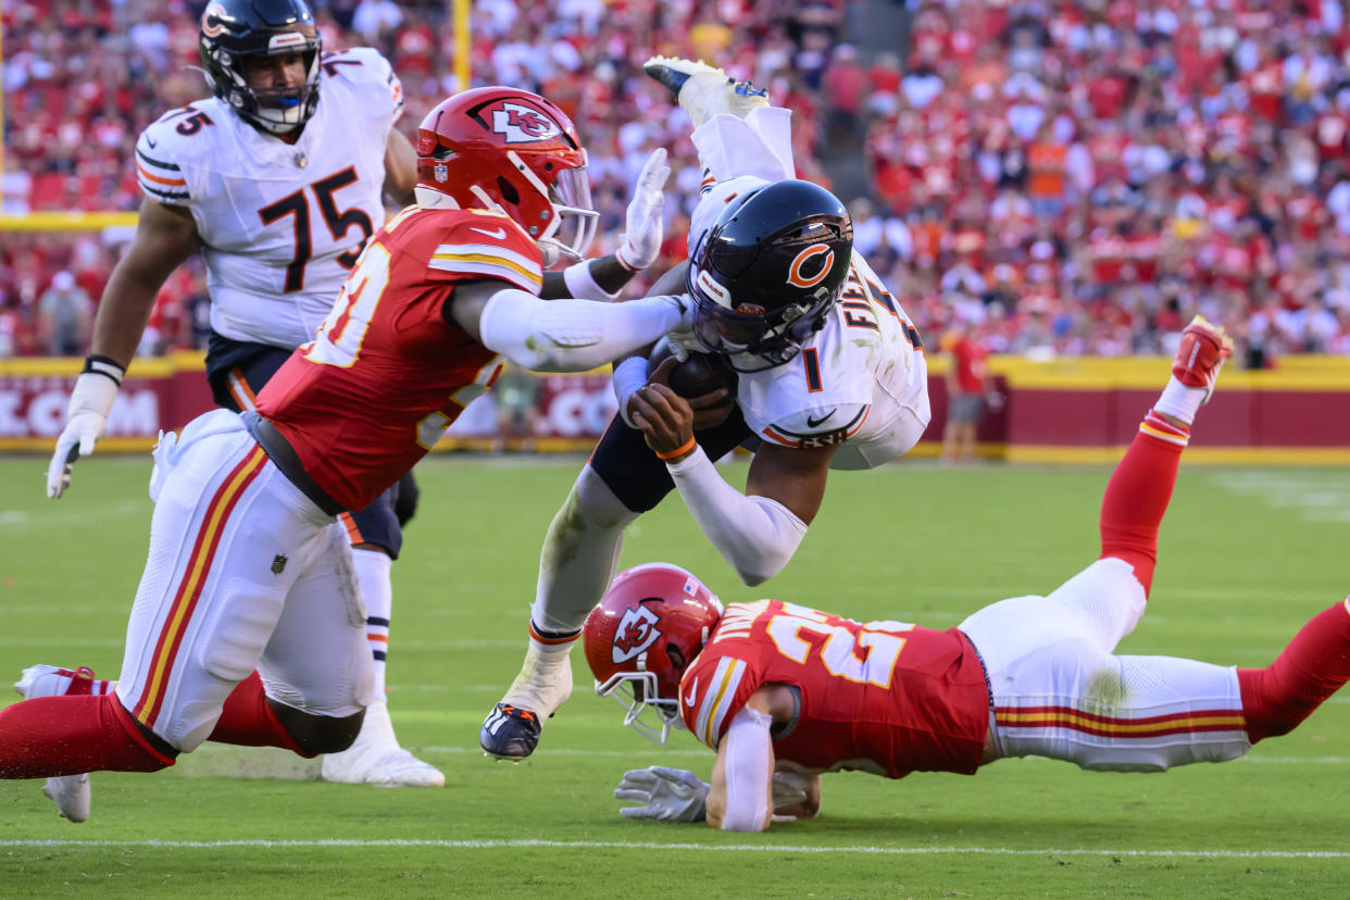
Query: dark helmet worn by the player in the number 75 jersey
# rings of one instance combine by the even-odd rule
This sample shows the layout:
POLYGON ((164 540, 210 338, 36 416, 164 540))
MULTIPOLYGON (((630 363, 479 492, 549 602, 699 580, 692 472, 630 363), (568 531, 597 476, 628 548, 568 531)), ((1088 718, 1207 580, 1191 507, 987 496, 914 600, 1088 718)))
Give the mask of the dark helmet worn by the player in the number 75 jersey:
POLYGON ((319 108, 323 38, 304 0, 212 0, 201 13, 197 49, 215 96, 261 131, 296 132, 319 108), (247 59, 293 53, 304 58, 304 84, 248 84, 247 59))

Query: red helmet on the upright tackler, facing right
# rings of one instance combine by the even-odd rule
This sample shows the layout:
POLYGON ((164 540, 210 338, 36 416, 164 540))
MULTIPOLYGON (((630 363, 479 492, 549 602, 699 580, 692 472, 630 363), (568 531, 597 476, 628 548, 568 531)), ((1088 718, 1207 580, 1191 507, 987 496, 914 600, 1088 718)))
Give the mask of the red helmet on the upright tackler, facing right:
POLYGON ((580 259, 599 216, 571 119, 514 88, 466 90, 427 113, 417 128, 417 202, 500 209, 539 243, 545 266, 580 259))

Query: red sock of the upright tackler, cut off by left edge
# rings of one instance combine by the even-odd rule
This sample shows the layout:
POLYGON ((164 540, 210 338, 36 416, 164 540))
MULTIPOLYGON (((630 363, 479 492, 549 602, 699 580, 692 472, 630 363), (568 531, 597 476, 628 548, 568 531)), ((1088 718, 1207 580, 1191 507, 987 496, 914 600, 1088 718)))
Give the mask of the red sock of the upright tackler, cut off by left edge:
POLYGON ((0 710, 0 779, 158 772, 173 762, 113 694, 42 696, 0 710))

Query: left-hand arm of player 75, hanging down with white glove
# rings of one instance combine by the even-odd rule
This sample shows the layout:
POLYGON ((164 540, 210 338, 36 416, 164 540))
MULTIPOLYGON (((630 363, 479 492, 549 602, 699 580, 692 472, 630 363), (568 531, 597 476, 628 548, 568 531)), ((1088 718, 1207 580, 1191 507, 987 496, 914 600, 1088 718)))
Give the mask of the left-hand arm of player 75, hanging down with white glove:
POLYGON ((47 467, 47 497, 70 486, 70 467, 93 452, 103 436, 122 376, 136 355, 155 294, 165 279, 197 251, 197 223, 186 209, 153 200, 140 204, 140 220, 127 255, 112 270, 93 321, 93 341, 66 407, 66 425, 47 467))

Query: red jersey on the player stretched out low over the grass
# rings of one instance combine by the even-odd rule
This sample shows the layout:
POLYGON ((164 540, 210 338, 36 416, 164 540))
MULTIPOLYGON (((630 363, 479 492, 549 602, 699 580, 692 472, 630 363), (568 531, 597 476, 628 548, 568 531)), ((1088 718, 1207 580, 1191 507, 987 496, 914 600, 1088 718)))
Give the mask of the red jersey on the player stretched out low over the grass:
POLYGON ((780 600, 733 603, 680 680, 680 714, 717 748, 763 684, 801 691, 779 760, 807 769, 973 773, 990 726, 975 648, 957 629, 855 622, 780 600))

